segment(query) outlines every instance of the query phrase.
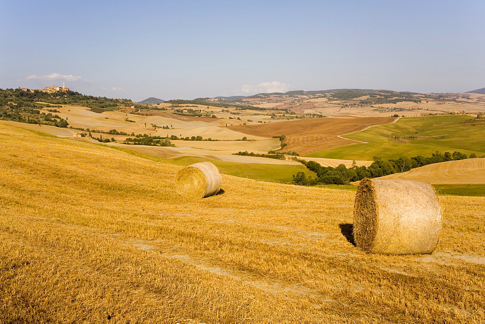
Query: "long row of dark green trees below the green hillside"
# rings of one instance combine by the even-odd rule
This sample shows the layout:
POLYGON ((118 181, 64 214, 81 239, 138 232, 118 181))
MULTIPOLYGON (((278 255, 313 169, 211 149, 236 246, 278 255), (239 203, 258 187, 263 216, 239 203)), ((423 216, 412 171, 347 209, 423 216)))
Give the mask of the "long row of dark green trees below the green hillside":
MULTIPOLYGON (((470 159, 476 158, 472 153, 470 159)), ((485 156, 484 156, 485 157, 485 156)), ((393 173, 409 171, 427 164, 446 162, 452 160, 467 159, 467 156, 461 152, 445 152, 444 154, 436 151, 431 157, 425 158, 422 155, 407 157, 402 156, 399 159, 383 161, 379 157, 374 157, 374 162, 369 166, 357 166, 354 162, 352 167, 347 168, 344 164, 337 167, 322 166, 315 161, 305 161, 296 159, 304 164, 308 170, 317 174, 317 178, 306 177, 304 173, 293 175, 293 183, 299 185, 316 185, 323 184, 349 184, 352 181, 362 180, 363 178, 377 178, 387 176, 393 173)))

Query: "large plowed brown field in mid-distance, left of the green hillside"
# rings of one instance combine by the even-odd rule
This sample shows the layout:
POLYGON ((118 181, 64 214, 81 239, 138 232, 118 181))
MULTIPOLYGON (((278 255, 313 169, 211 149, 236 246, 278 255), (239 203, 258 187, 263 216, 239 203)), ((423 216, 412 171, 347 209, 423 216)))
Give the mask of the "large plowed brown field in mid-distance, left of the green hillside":
POLYGON ((356 144, 338 135, 364 130, 371 126, 390 124, 395 117, 312 118, 262 125, 229 126, 244 134, 272 137, 286 135, 287 149, 307 155, 323 149, 356 144))

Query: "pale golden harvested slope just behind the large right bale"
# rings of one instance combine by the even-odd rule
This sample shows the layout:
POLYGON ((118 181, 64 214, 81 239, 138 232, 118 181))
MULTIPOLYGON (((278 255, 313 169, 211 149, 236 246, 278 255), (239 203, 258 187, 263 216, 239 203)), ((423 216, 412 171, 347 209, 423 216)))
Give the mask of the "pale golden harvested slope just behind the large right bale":
POLYGON ((485 159, 428 164, 381 178, 416 180, 431 184, 485 184, 485 159))

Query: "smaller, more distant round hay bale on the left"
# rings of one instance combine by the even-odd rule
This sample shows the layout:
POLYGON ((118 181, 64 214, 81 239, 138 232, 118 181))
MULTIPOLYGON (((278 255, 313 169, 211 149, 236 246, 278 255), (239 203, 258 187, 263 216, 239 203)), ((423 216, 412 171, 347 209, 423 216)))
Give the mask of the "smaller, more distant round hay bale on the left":
POLYGON ((178 171, 176 189, 185 197, 209 197, 221 189, 221 175, 210 162, 194 163, 178 171))

